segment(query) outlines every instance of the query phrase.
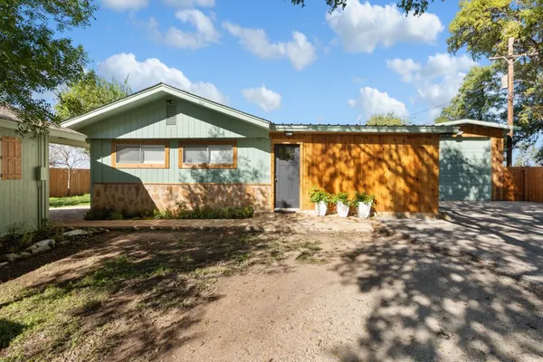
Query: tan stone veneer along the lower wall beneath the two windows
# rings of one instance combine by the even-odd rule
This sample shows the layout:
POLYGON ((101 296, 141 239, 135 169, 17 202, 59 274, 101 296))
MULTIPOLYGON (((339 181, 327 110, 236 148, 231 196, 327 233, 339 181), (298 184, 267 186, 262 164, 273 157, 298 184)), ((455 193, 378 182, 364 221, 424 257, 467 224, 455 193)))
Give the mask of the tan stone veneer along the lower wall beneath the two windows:
POLYGON ((92 208, 125 212, 175 209, 177 203, 225 207, 252 205, 255 211, 270 209, 271 186, 250 184, 94 184, 92 208))

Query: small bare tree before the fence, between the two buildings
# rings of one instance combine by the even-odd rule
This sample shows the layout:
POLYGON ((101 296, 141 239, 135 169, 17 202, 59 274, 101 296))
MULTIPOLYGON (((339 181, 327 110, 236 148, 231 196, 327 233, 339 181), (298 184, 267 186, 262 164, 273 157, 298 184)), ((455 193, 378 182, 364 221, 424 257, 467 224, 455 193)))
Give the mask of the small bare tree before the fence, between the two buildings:
POLYGON ((51 144, 49 145, 49 167, 66 170, 68 195, 71 195, 71 179, 89 167, 89 155, 83 148, 51 144))

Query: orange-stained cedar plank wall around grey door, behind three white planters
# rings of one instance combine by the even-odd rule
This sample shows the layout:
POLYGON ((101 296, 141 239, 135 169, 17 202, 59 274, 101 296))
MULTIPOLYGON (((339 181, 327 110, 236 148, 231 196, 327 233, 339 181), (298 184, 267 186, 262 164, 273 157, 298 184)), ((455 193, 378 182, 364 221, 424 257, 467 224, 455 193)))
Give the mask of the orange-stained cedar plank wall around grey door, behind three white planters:
MULTIPOLYGON (((355 191, 375 194, 378 212, 436 214, 439 139, 439 134, 353 133, 294 133, 289 138, 271 132, 272 144, 300 144, 303 210, 314 207, 309 191, 319 186, 329 193, 348 192, 349 197, 355 191)), ((273 152, 272 147, 271 167, 273 152)))

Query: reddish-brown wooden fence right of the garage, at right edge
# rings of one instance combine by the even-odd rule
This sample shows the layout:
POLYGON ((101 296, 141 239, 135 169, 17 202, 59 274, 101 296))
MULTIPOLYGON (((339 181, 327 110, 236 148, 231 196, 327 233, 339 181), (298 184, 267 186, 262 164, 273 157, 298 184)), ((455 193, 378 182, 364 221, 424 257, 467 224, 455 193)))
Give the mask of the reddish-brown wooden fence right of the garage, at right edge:
POLYGON ((503 200, 543 203, 543 167, 503 167, 503 200))

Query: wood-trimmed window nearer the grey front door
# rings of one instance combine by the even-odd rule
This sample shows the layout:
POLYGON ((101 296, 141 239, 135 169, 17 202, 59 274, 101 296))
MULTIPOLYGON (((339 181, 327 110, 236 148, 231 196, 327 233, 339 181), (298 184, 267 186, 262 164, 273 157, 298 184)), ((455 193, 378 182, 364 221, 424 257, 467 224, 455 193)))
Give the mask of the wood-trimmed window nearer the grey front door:
POLYGON ((235 141, 179 141, 180 168, 237 168, 235 141))

